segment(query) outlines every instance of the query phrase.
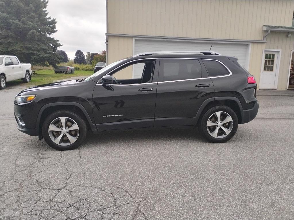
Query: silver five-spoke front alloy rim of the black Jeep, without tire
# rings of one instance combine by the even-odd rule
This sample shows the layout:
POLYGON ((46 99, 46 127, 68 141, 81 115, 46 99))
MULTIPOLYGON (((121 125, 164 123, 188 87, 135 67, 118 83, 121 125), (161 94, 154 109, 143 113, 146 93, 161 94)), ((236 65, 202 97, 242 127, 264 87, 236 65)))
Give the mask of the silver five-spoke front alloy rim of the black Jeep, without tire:
POLYGON ((54 119, 48 128, 51 140, 61 146, 71 145, 78 139, 78 124, 71 118, 59 117, 54 119))

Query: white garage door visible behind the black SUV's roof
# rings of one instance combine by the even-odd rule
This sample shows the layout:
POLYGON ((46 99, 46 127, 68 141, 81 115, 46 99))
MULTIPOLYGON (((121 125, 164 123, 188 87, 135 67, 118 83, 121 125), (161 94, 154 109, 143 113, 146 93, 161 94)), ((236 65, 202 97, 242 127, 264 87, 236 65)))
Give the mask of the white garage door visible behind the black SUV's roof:
MULTIPOLYGON (((211 50, 221 55, 238 57, 238 63, 247 67, 248 44, 242 43, 202 43, 191 41, 173 40, 143 40, 135 39, 134 55, 143 52, 168 51, 168 50, 211 50)), ((134 72, 134 77, 141 77, 141 71, 134 72), (138 74, 137 74, 138 72, 138 74), (137 76, 138 75, 138 76, 137 76)))

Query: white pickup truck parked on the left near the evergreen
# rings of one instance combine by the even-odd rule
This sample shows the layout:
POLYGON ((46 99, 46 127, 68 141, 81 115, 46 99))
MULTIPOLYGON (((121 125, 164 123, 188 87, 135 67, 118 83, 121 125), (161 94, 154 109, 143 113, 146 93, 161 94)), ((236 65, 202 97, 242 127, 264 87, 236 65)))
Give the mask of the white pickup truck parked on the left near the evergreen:
POLYGON ((30 63, 21 63, 16 56, 0 55, 0 89, 5 89, 6 82, 16 79, 29 82, 31 75, 30 63))

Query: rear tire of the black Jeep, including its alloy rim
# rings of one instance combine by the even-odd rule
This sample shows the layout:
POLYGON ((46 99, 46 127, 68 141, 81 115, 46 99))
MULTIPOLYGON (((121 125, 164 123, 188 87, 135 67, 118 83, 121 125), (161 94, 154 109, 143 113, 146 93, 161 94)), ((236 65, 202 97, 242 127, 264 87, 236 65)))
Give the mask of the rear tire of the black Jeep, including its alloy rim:
POLYGON ((201 117, 198 129, 208 141, 224 143, 235 135, 238 129, 238 117, 228 106, 212 106, 201 117), (226 123, 223 123, 224 121, 226 123))

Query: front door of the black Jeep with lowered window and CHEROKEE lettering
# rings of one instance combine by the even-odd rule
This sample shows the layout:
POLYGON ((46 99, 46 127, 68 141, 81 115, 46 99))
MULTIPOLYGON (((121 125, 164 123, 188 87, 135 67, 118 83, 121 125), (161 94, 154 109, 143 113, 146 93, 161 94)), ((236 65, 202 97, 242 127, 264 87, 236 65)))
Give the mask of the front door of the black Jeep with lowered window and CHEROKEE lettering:
POLYGON ((136 60, 111 72, 111 84, 98 81, 92 100, 98 131, 153 127, 157 65, 156 59, 136 60))

